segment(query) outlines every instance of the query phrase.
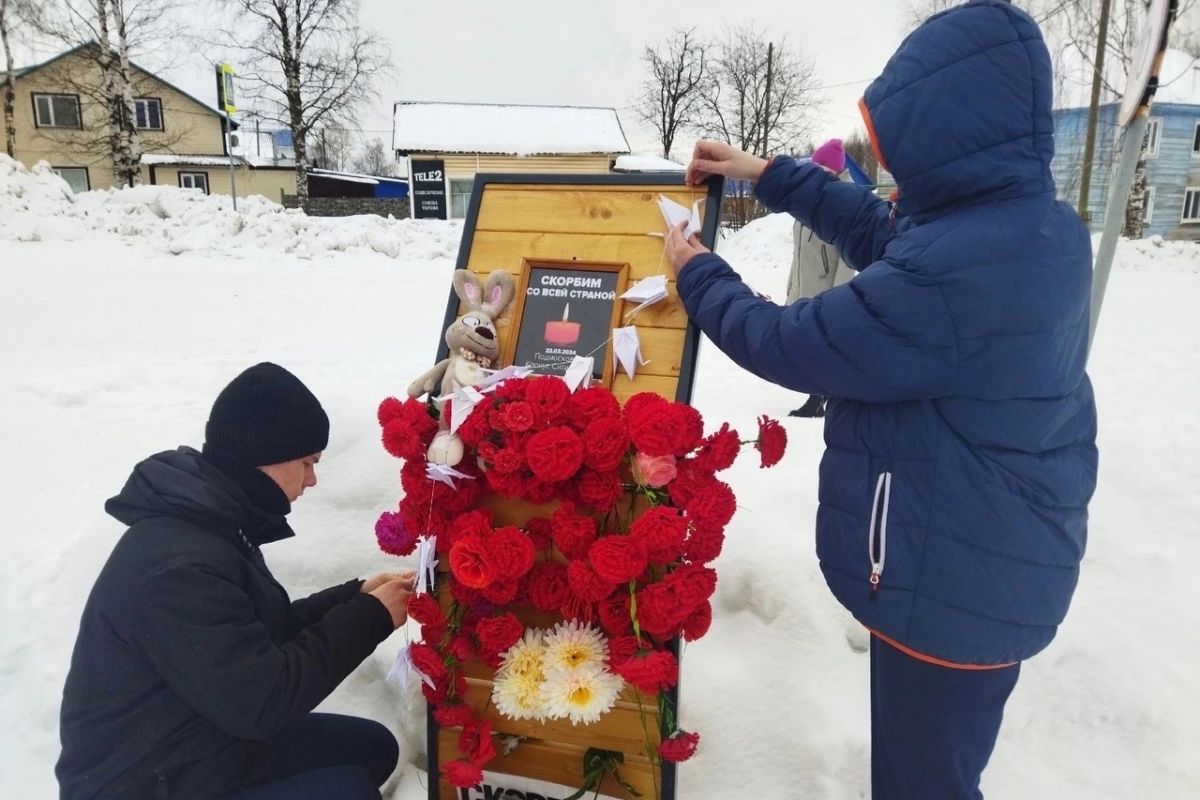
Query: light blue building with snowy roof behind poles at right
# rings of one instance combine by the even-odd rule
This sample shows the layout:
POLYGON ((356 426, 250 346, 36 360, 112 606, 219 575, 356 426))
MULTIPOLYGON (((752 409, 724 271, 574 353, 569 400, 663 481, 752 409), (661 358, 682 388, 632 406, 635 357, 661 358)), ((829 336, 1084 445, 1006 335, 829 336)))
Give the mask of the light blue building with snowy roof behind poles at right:
MULTIPOLYGON (((1145 235, 1200 240, 1200 61, 1180 50, 1168 50, 1162 85, 1150 109, 1144 198, 1145 235)), ((1086 104, 1079 92, 1054 112, 1055 157, 1051 164, 1058 197, 1079 204, 1086 104)), ((1092 230, 1104 227, 1109 188, 1121 151, 1118 102, 1100 106, 1096 127, 1088 216, 1092 230)))

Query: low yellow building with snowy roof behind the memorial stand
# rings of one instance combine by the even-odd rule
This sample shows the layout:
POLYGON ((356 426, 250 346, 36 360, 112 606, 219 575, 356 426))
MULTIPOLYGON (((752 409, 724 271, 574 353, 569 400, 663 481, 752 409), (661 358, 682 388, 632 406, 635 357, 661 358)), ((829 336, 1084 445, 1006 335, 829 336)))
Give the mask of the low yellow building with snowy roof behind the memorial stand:
MULTIPOLYGON (((440 164, 442 213, 467 216, 479 173, 606 174, 629 154, 616 109, 575 106, 400 102, 392 114, 392 150, 412 164, 440 164)), ((414 205, 420 205, 414 180, 414 205)), ((426 184, 427 186, 427 184, 426 184)))

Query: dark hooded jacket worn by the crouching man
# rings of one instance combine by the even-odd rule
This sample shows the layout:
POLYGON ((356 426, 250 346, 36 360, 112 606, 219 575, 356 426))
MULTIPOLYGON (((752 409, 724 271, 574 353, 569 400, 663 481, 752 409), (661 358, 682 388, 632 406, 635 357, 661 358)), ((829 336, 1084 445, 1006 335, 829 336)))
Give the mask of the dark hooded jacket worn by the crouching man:
POLYGON ((358 581, 292 602, 258 549, 292 535, 284 517, 196 450, 142 462, 106 507, 130 529, 79 625, 61 796, 229 794, 256 742, 320 703, 391 615, 358 581))

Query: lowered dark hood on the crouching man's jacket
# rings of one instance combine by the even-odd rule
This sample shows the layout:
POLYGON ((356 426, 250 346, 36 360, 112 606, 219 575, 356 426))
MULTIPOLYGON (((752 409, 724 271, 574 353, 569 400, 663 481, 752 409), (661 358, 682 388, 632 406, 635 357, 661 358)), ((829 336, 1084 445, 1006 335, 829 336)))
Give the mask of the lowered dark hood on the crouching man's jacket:
POLYGON ((173 517, 240 530, 254 545, 293 535, 283 516, 256 507, 245 489, 192 447, 168 450, 139 463, 104 510, 126 525, 173 517))

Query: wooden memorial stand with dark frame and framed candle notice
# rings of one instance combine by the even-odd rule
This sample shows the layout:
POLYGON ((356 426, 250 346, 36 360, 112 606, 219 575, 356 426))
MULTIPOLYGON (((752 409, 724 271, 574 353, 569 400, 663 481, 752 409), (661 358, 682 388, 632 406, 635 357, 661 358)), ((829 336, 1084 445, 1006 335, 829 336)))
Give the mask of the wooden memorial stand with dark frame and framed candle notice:
MULTIPOLYGON (((620 300, 619 295, 637 281, 666 271, 662 240, 649 235, 665 229, 659 196, 689 209, 695 200, 702 200, 700 237, 712 248, 720 224, 722 191, 719 179, 704 187, 688 187, 683 175, 673 173, 476 176, 457 266, 481 279, 498 269, 514 276, 517 296, 496 320, 503 353, 498 366, 528 363, 542 374, 562 374, 574 355, 592 355, 593 383, 608 386, 622 402, 646 391, 690 402, 700 331, 689 323, 674 282, 668 282, 666 300, 643 308, 632 321, 629 313, 637 303, 620 300), (629 324, 637 326, 647 361, 638 366, 634 379, 613 367, 608 341, 613 327, 629 324)), ((458 299, 451 290, 445 327, 458 314, 458 299)), ((443 342, 437 357, 445 356, 443 342)), ((547 513, 546 507, 494 495, 486 505, 497 525, 521 525, 535 513, 547 513)), ((449 602, 445 585, 445 581, 439 584, 443 603, 449 602)), ((526 624, 550 626, 557 621, 526 607, 510 610, 526 624)), ((623 753, 620 775, 643 799, 676 798, 674 764, 664 762, 660 774, 646 756, 644 730, 649 729, 652 740, 661 735, 654 698, 643 697, 640 705, 626 687, 617 705, 590 726, 572 726, 565 720, 514 721, 490 703, 492 670, 475 658, 467 662, 464 672, 467 704, 476 712, 487 709, 485 716, 494 733, 522 738, 506 756, 497 740, 500 754, 485 768, 487 775, 576 788, 583 782, 584 751, 598 747, 623 753)), ((677 692, 678 687, 672 696, 676 706, 677 692)), ((432 714, 427 715, 427 726, 430 800, 482 800, 479 789, 456 789, 439 777, 439 764, 458 757, 457 729, 440 729, 432 714)), ((623 800, 634 796, 612 780, 604 782, 600 794, 623 800)))

